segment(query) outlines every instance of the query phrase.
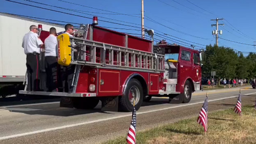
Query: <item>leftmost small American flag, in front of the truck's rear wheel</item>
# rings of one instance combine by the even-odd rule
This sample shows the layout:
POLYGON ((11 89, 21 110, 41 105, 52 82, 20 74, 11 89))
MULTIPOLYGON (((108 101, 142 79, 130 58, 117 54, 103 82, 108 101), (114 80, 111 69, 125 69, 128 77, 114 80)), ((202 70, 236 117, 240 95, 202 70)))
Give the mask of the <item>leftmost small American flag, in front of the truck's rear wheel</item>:
POLYGON ((133 102, 133 115, 132 121, 130 123, 130 128, 126 137, 126 142, 128 144, 136 144, 136 110, 135 110, 135 101, 133 102))

